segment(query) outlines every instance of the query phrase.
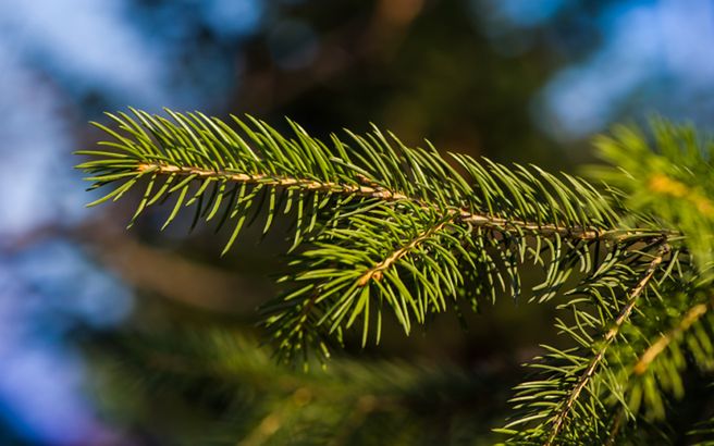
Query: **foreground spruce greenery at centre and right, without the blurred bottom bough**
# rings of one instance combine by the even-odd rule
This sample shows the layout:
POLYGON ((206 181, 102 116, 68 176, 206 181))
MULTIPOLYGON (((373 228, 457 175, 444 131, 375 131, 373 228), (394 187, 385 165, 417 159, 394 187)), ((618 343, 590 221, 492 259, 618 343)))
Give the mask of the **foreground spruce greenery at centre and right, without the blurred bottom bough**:
MULTIPOLYGON (((79 165, 93 205, 138 189, 134 218, 175 197, 193 224, 232 226, 224 252, 261 211, 294 222, 288 290, 263 308, 284 360, 324 359, 356 327, 379 343, 384 314, 405 333, 448 308, 476 309, 542 269, 528 299, 558 299, 565 347, 543 346, 497 432, 514 444, 677 441, 673 421, 692 375, 710 376, 714 336, 709 264, 714 205, 710 151, 691 129, 655 125, 658 150, 635 129, 601 139, 613 168, 602 188, 536 166, 506 166, 408 148, 377 128, 325 144, 250 116, 235 127, 200 113, 109 114, 118 129, 79 165)), ((705 419, 705 414, 702 414, 705 419)), ((679 423, 679 424, 677 424, 679 423)), ((702 429, 694 430, 704 437, 702 429)))

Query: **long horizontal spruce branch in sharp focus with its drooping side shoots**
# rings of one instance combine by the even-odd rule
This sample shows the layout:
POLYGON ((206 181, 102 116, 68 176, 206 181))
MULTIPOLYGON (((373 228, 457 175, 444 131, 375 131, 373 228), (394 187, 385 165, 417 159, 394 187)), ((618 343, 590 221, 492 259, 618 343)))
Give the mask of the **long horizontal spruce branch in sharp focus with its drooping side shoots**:
POLYGON ((96 124, 111 137, 100 145, 113 151, 79 152, 93 158, 78 166, 90 173, 93 188, 119 183, 90 205, 144 188, 136 219, 174 196, 163 227, 188 207, 192 226, 232 222, 223 253, 248 213, 268 211, 263 232, 278 214, 292 213, 293 249, 310 241, 288 277, 301 287, 264 310, 290 355, 307 349, 306 337, 320 331, 305 331, 318 326, 319 338, 338 340, 361 320, 366 342, 372 312, 379 339, 382 306, 408 333, 413 318, 423 323, 447 300, 467 296, 475 307, 479 290, 494 299, 495 284, 516 297, 526 261, 546 270, 534 295, 546 299, 574 270, 592 263, 595 244, 663 234, 619 226, 614 200, 580 178, 458 153, 450 162, 429 144, 408 148, 377 128, 366 136, 346 132, 345 140, 332 135, 327 145, 290 121, 292 139, 250 116, 232 116, 234 128, 201 113, 167 110, 168 120, 132 112, 108 114, 116 131, 96 124), (465 292, 466 283, 477 293, 465 292))

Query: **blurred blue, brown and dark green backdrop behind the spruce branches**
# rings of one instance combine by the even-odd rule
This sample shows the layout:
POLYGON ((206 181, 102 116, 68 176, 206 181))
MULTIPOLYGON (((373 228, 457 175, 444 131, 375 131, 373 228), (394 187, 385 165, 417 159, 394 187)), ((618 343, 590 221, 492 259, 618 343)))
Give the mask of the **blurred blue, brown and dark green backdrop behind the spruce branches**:
POLYGON ((387 329, 327 374, 273 368, 256 307, 283 240, 256 230, 219 260, 210 227, 157 236, 163 214, 126 232, 131 205, 85 210, 70 153, 104 110, 288 115, 317 136, 373 122, 569 171, 615 121, 707 128, 713 87, 710 0, 0 1, 0 443, 297 443, 280 429, 297 416, 343 426, 336 444, 488 442, 555 335, 551 308, 502 299, 467 331, 387 329))

